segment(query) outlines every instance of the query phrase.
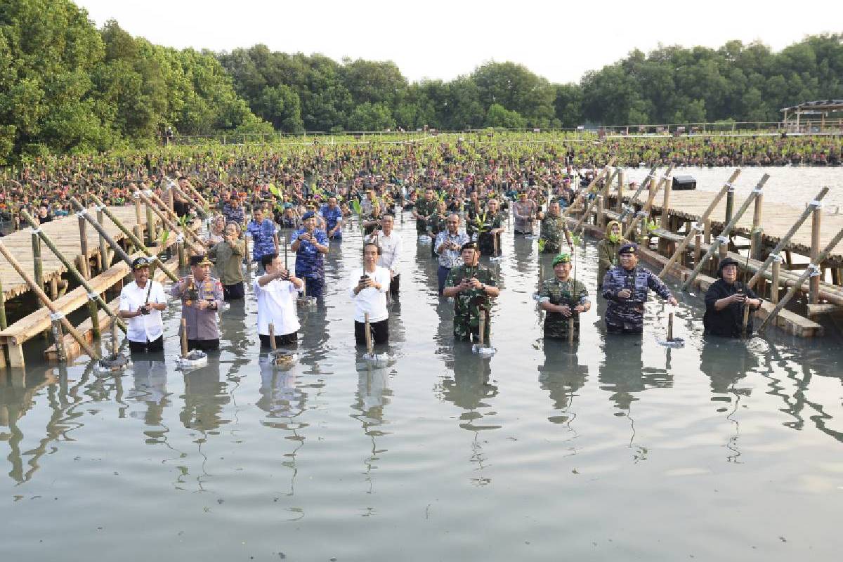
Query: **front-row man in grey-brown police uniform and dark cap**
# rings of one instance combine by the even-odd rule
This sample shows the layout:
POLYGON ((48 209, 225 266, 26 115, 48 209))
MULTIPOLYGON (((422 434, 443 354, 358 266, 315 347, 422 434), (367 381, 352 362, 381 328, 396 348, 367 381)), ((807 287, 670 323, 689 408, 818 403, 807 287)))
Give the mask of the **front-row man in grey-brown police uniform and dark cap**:
POLYGON ((223 308, 223 284, 211 276, 211 260, 191 255, 191 275, 182 277, 170 289, 181 298, 181 318, 187 321, 187 347, 190 350, 219 349, 217 311, 223 308))

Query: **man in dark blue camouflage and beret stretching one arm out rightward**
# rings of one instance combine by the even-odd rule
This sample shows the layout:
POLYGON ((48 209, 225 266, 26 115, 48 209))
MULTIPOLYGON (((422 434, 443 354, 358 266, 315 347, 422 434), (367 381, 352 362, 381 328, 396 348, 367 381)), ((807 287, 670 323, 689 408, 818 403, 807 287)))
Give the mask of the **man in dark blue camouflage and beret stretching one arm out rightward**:
POLYGON ((608 301, 606 330, 611 334, 641 334, 650 290, 674 306, 676 298, 658 276, 638 266, 638 244, 624 244, 618 256, 620 265, 608 270, 603 278, 603 297, 608 301))

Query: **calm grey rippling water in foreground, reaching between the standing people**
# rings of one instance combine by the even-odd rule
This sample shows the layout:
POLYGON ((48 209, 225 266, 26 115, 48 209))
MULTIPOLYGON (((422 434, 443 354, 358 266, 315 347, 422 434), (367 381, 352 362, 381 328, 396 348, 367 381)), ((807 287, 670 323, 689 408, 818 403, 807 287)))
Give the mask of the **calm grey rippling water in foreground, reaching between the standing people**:
MULTIPOLYGON (((33 367, 0 385, 0 559, 832 559, 843 521, 843 354, 834 336, 705 342, 700 299, 647 308, 578 348, 543 345, 534 242, 510 233, 489 361, 454 346, 435 265, 405 238, 395 364, 357 365, 331 249, 301 361, 260 367, 255 300, 223 314, 223 351, 120 377, 33 367)), ((596 250, 576 275, 595 290, 596 250)), ((550 271, 545 256, 545 274, 550 271)))

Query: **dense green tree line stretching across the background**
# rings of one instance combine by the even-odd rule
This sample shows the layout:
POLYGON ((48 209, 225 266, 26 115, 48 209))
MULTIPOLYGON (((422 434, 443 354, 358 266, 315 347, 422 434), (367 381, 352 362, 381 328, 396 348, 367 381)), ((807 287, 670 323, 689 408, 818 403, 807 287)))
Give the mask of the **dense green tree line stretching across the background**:
POLYGON ((780 52, 754 42, 661 46, 556 84, 513 62, 410 82, 394 62, 270 51, 176 50, 97 29, 70 0, 0 0, 0 163, 217 131, 554 128, 776 121, 843 98, 843 34, 780 52))

